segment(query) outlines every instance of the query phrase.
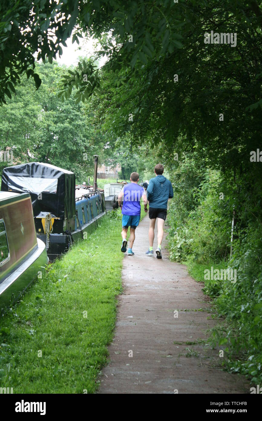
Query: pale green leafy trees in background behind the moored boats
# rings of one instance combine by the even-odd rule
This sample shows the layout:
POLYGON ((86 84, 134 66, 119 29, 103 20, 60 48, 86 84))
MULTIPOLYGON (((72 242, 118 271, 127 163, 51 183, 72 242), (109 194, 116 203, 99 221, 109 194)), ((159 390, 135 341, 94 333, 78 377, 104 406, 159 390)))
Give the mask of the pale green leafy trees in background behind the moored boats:
MULTIPOLYGON (((64 69, 37 64, 42 84, 21 78, 8 105, 0 108, 1 149, 13 153, 13 164, 40 161, 74 171, 77 179, 93 174, 93 155, 103 155, 103 136, 92 124, 90 108, 73 99, 61 103, 57 86, 64 69)), ((0 163, 2 169, 11 163, 0 163)))

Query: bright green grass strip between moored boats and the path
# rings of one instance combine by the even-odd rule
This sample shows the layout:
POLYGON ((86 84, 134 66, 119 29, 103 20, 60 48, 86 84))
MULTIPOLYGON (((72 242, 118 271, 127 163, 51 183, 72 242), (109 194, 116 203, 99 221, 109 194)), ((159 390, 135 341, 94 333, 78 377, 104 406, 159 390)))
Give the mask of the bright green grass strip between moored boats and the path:
POLYGON ((13 387, 14 393, 96 391, 122 291, 121 240, 118 210, 42 269, 42 279, 2 317, 0 387, 13 387))

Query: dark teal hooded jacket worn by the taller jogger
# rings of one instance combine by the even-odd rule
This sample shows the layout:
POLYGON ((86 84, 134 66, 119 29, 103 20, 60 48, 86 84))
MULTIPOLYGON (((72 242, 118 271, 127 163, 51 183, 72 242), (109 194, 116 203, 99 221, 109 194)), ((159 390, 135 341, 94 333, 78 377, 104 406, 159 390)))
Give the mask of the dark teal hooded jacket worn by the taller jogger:
POLYGON ((163 175, 151 179, 147 188, 150 208, 167 209, 167 200, 174 196, 172 184, 163 175))

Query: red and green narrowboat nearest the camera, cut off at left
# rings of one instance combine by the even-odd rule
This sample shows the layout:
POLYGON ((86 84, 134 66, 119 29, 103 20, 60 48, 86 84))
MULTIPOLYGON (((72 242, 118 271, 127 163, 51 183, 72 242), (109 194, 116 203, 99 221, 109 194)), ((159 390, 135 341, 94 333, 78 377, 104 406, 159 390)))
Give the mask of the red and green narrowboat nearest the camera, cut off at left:
POLYGON ((29 193, 0 192, 0 314, 47 263, 45 244, 36 237, 29 193))

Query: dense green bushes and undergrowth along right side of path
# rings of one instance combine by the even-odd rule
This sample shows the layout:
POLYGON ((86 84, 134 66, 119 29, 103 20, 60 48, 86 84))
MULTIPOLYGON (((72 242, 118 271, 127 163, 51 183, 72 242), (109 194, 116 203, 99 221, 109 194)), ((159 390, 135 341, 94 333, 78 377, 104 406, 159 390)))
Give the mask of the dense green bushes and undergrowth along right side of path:
MULTIPOLYGON (((254 172, 256 168, 254 167, 254 172)), ((175 169, 174 200, 169 206, 170 257, 187 261, 191 273, 204 281, 225 323, 213 330, 213 341, 225 349, 223 365, 244 373, 256 384, 262 380, 262 221, 261 184, 250 171, 246 183, 225 179, 196 155, 175 169), (251 191, 252 187, 252 191, 251 191), (235 210, 233 253, 231 222, 235 210), (205 279, 205 270, 236 270, 236 282, 205 279)), ((233 274, 234 272, 232 272, 233 274)))

